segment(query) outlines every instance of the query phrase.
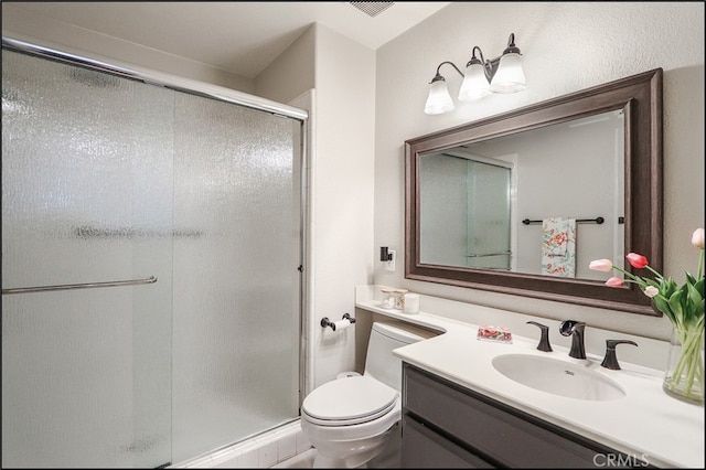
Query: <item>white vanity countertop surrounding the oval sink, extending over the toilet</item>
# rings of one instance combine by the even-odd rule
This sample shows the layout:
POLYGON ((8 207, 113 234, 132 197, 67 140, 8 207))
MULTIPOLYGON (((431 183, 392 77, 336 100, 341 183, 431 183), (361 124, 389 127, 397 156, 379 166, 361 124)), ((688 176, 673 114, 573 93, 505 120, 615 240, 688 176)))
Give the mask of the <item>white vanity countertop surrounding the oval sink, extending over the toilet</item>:
POLYGON ((528 339, 513 333, 512 344, 479 341, 478 325, 472 323, 425 311, 408 314, 383 309, 375 299, 359 297, 356 307, 443 331, 395 350, 405 362, 655 467, 704 468, 704 407, 666 395, 662 389, 664 372, 620 360, 620 349, 618 359, 622 368, 611 371, 601 367, 602 356, 595 354, 576 360, 566 348, 555 344, 553 352, 538 351, 538 334, 528 339), (625 396, 598 402, 536 391, 505 377, 492 366, 494 356, 511 353, 581 364, 617 382, 625 396))

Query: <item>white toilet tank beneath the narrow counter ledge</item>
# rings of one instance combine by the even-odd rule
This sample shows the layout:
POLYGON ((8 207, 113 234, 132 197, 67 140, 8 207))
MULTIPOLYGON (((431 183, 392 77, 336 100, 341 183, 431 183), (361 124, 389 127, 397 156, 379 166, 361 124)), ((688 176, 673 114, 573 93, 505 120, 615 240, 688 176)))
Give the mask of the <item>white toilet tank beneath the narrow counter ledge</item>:
POLYGON ((367 343, 364 375, 402 391, 402 360, 393 354, 393 350, 438 334, 409 323, 374 322, 367 343))

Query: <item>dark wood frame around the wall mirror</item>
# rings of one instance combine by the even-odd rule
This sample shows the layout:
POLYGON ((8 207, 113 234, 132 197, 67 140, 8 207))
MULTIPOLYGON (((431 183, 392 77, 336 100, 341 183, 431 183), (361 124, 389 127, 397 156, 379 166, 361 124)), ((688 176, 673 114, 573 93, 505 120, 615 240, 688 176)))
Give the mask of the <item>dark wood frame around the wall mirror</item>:
MULTIPOLYGON (((405 142, 405 277, 472 289, 660 316, 632 282, 472 269, 420 261, 419 158, 461 143, 507 136, 610 110, 624 111, 624 250, 662 270, 662 68, 552 98, 405 142)), ((607 257, 610 254, 607 255, 607 257)), ((629 264, 625 269, 632 270, 629 264)), ((649 273, 640 276, 649 276, 649 273)))

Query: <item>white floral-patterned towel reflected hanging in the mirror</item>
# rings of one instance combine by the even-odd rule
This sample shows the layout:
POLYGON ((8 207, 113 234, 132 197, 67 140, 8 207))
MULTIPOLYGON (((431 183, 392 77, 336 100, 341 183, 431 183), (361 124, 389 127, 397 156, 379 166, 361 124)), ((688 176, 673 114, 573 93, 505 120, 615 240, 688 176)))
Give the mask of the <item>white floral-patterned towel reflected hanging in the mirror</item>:
POLYGON ((542 274, 576 276, 576 218, 542 221, 542 274))

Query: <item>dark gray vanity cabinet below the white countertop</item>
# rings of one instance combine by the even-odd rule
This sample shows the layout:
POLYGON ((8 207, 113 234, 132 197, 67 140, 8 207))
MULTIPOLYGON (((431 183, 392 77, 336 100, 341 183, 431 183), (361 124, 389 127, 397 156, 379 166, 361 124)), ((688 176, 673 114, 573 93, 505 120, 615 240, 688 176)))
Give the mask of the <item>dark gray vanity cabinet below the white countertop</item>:
POLYGON ((609 447, 403 363, 403 468, 644 468, 609 447))

